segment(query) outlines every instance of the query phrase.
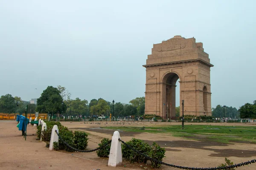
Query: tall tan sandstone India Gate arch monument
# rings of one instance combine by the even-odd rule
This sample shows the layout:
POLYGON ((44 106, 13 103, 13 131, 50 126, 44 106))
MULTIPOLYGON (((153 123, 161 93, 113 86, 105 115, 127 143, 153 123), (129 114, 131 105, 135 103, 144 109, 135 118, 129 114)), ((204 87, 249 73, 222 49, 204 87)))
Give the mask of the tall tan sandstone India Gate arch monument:
POLYGON ((211 116, 209 55, 203 43, 181 36, 154 44, 146 65, 145 114, 175 119, 175 89, 180 79, 180 115, 211 116), (168 105, 168 107, 167 107, 168 105), (167 110, 167 111, 166 111, 167 110))

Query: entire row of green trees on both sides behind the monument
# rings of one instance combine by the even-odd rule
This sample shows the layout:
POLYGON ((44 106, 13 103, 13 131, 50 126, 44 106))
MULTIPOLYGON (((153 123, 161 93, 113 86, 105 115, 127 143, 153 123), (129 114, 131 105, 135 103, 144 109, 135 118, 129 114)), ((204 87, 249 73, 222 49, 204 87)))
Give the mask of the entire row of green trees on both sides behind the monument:
MULTIPOLYGON (((23 101, 20 97, 13 97, 11 94, 6 94, 0 97, 0 112, 1 113, 24 113, 25 107, 28 105, 28 113, 49 113, 49 114, 65 114, 65 115, 105 115, 109 116, 142 116, 145 110, 145 97, 137 97, 132 99, 129 104, 121 102, 109 102, 105 99, 92 99, 90 103, 84 99, 70 99, 71 94, 65 87, 60 85, 55 88, 48 86, 37 100, 37 105, 23 101)), ((179 107, 176 107, 176 116, 179 116, 179 107)), ((212 108, 213 117, 230 117, 230 118, 250 118, 256 119, 256 100, 253 104, 246 103, 239 109, 232 106, 217 105, 212 108), (224 115, 225 112, 225 115, 224 115)))

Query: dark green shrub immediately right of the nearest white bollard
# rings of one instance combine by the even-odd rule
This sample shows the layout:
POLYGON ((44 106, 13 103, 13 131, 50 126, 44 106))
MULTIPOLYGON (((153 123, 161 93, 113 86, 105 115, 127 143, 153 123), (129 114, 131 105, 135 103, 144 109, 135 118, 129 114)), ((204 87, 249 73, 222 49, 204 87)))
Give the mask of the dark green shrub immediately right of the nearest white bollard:
MULTIPOLYGON (((140 139, 133 138, 130 141, 126 142, 126 144, 138 150, 140 153, 144 153, 145 155, 148 155, 148 151, 151 149, 148 143, 145 143, 143 140, 140 139)), ((122 144, 122 156, 123 158, 128 159, 131 163, 146 163, 148 160, 145 156, 134 152, 125 144, 122 144)))

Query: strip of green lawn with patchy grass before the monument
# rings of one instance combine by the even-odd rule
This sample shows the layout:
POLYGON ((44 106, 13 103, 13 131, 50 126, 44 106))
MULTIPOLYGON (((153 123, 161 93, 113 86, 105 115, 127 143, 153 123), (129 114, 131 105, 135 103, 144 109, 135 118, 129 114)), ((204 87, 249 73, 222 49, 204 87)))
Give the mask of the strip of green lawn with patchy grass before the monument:
POLYGON ((229 142, 251 142, 256 144, 256 127, 254 126, 211 126, 211 125, 170 125, 165 127, 104 127, 106 129, 131 132, 169 133, 172 136, 194 140, 229 142))

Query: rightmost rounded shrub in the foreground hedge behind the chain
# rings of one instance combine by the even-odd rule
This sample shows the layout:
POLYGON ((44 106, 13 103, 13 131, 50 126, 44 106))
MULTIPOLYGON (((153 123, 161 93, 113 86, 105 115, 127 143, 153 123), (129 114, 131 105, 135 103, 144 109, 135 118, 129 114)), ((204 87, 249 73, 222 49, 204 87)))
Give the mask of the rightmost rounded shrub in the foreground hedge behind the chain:
MULTIPOLYGON (((165 157, 166 150, 163 147, 160 147, 157 143, 151 145, 151 150, 148 152, 148 156, 154 158, 158 161, 162 161, 165 157)), ((150 160, 151 161, 151 160, 150 160)), ((151 161, 151 167, 160 167, 161 164, 156 161, 151 161)))

